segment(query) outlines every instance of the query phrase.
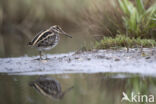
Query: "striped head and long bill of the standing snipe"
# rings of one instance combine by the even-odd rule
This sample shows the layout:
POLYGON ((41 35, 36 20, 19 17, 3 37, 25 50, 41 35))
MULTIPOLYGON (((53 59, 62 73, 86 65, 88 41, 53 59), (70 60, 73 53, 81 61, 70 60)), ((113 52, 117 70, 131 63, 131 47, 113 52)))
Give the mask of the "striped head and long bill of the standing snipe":
POLYGON ((62 30, 62 28, 61 28, 60 26, 58 26, 58 25, 51 26, 51 27, 50 27, 50 30, 51 30, 51 31, 54 31, 54 32, 56 32, 56 33, 58 33, 58 34, 63 34, 63 35, 65 35, 65 36, 68 36, 68 37, 72 38, 70 35, 68 35, 66 32, 64 32, 64 31, 62 30))

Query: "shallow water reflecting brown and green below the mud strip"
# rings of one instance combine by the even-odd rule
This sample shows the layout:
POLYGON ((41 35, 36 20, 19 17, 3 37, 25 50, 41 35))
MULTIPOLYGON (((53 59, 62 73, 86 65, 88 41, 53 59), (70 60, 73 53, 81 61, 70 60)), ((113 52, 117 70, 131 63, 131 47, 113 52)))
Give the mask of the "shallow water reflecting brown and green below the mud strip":
POLYGON ((123 92, 128 96, 131 92, 156 96, 156 78, 152 77, 127 73, 58 74, 47 77, 57 80, 63 91, 74 88, 63 99, 51 99, 29 86, 38 77, 0 75, 0 104, 121 104, 123 92))

